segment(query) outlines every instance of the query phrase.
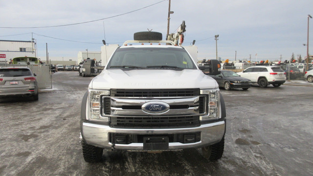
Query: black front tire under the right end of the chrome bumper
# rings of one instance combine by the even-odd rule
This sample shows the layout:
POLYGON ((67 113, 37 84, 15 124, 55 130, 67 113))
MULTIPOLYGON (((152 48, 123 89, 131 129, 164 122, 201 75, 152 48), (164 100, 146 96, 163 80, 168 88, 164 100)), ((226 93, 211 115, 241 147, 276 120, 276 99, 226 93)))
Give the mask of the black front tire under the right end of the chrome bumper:
POLYGON ((208 160, 216 161, 218 159, 221 159, 223 153, 224 153, 224 136, 222 140, 216 144, 202 147, 202 155, 208 160))

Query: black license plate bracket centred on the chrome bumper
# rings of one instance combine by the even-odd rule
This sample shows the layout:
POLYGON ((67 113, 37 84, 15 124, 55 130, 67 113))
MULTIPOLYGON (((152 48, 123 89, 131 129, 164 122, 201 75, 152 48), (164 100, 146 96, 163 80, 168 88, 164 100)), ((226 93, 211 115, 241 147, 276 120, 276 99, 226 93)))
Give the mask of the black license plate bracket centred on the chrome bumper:
POLYGON ((168 150, 168 136, 143 137, 143 150, 168 150))

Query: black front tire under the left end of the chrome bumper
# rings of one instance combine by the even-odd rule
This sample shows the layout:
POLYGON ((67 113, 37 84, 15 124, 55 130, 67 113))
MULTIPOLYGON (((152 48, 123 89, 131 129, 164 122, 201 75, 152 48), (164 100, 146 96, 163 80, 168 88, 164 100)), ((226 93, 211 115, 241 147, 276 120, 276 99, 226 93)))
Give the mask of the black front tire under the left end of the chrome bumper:
POLYGON ((103 149, 87 144, 82 141, 83 156, 86 162, 100 162, 102 160, 103 149))

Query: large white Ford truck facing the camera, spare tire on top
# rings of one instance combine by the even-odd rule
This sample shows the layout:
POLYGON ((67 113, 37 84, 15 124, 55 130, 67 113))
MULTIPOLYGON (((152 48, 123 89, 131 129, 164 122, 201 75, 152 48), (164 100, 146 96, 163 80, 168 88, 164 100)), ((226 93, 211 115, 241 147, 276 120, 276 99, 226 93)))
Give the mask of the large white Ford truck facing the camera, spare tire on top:
MULTIPOLYGON (((210 63, 210 74, 219 74, 220 63, 210 63)), ((158 32, 137 32, 134 41, 119 46, 83 97, 85 161, 101 161, 103 149, 202 148, 204 157, 220 159, 224 99, 216 81, 199 67, 184 47, 162 41, 158 32)))

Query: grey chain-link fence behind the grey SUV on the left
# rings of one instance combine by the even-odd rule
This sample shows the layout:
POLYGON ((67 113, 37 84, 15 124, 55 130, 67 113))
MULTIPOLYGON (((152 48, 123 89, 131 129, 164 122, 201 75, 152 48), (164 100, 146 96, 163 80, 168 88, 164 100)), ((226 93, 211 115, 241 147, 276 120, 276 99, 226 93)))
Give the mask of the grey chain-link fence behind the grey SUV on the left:
POLYGON ((49 64, 32 64, 32 65, 19 65, 19 64, 0 64, 0 67, 28 67, 37 76, 38 88, 52 88, 52 75, 49 64))

